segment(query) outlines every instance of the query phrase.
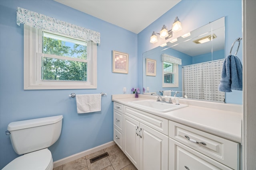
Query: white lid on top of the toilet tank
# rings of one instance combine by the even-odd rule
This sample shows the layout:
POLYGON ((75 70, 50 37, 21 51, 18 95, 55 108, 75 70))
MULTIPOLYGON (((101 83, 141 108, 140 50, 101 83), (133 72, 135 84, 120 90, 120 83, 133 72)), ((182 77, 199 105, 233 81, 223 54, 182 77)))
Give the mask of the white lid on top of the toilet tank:
POLYGON ((29 119, 23 121, 14 121, 9 123, 8 131, 16 131, 20 129, 26 129, 30 127, 37 127, 43 125, 50 125, 53 123, 57 123, 58 121, 62 120, 63 115, 58 116, 51 116, 51 117, 43 117, 38 119, 29 119))

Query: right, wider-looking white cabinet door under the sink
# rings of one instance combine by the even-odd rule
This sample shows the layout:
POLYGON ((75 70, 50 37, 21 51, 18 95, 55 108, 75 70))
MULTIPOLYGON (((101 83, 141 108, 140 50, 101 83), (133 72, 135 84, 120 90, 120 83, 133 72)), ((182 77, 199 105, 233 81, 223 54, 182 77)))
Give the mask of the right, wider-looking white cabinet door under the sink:
POLYGON ((140 170, 167 170, 168 137, 140 123, 139 138, 140 170))

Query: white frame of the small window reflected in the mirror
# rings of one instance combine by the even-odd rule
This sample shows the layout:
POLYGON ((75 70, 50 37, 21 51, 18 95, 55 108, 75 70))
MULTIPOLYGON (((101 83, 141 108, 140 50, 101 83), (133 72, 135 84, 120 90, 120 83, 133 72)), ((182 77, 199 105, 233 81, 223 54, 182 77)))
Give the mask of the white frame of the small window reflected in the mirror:
POLYGON ((164 83, 164 62, 172 63, 170 61, 162 61, 162 87, 170 88, 170 87, 179 87, 179 65, 176 63, 172 63, 173 72, 168 72, 174 74, 174 83, 164 83))

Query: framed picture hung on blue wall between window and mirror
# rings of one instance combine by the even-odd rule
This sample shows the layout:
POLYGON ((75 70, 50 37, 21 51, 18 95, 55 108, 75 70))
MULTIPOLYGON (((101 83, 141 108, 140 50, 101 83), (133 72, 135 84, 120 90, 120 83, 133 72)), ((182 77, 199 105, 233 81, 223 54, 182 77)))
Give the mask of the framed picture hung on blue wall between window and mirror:
POLYGON ((113 50, 112 72, 128 74, 128 58, 129 55, 113 50))

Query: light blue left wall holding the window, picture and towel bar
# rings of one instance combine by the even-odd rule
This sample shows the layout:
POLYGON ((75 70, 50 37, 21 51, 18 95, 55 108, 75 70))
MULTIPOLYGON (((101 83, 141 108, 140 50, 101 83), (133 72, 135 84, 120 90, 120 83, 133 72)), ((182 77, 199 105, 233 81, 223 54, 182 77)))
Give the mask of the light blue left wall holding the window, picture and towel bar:
POLYGON ((8 123, 63 115, 60 139, 49 149, 54 161, 113 140, 112 94, 137 87, 137 34, 64 6, 53 0, 0 0, 0 169, 18 155, 5 135, 8 123), (23 24, 16 24, 16 8, 100 32, 98 88, 91 90, 23 90, 23 24), (129 54, 129 74, 112 73, 112 50, 129 54), (102 111, 76 112, 76 99, 68 95, 105 92, 102 111))

